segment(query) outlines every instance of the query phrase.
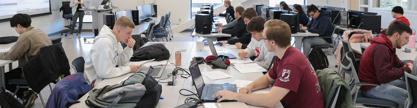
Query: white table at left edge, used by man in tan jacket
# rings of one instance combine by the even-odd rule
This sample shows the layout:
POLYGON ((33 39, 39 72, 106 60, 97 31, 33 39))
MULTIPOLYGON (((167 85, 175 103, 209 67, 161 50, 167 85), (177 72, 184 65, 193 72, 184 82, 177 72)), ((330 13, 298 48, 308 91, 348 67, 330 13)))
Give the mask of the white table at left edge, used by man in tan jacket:
MULTIPOLYGON (((14 43, 9 43, 9 44, 2 44, 0 45, 0 49, 5 49, 5 48, 12 48, 13 45, 15 45, 16 42, 14 43)), ((12 63, 16 61, 16 60, 1 60, 0 59, 0 88, 3 87, 5 88, 6 82, 5 82, 5 65, 9 65, 9 71, 13 69, 12 67, 12 63)), ((1 92, 1 90, 0 90, 1 92)))

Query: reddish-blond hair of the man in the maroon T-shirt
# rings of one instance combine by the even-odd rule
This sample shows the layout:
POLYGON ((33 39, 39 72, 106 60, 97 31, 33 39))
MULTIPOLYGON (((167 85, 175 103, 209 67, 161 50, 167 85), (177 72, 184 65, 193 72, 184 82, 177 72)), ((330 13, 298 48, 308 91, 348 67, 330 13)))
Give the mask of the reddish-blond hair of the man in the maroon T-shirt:
POLYGON ((274 40, 280 48, 291 44, 291 30, 289 25, 281 20, 269 20, 265 23, 265 35, 269 40, 274 40))

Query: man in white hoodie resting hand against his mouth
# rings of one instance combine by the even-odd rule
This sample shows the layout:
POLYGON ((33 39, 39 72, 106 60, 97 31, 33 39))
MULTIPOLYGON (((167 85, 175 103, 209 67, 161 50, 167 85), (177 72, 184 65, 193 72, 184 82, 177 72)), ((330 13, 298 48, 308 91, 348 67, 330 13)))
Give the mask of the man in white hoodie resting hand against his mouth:
POLYGON ((113 30, 103 26, 90 53, 85 58, 84 77, 87 82, 95 79, 95 85, 104 78, 114 78, 129 72, 136 72, 142 65, 129 65, 129 59, 133 55, 133 46, 136 41, 132 38, 135 24, 126 16, 116 20, 113 30), (122 48, 120 42, 128 47, 122 48), (119 67, 116 67, 118 65, 119 67))

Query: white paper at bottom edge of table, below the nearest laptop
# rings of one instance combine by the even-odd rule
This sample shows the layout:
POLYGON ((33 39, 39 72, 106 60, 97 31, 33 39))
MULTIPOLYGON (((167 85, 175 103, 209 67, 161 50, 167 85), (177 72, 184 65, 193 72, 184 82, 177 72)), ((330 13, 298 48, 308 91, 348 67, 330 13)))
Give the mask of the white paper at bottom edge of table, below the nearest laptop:
POLYGON ((243 102, 204 103, 204 108, 249 108, 243 102))

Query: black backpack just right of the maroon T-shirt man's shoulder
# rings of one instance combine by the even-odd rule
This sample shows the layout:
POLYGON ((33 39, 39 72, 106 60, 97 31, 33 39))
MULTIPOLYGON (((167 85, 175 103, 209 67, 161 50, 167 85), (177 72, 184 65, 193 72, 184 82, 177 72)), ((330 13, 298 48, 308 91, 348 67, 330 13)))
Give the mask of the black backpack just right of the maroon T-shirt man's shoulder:
POLYGON ((313 48, 309 54, 309 61, 313 65, 314 70, 323 70, 329 67, 329 60, 322 48, 313 48))

